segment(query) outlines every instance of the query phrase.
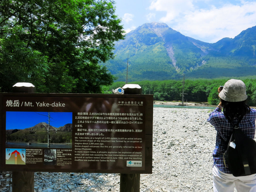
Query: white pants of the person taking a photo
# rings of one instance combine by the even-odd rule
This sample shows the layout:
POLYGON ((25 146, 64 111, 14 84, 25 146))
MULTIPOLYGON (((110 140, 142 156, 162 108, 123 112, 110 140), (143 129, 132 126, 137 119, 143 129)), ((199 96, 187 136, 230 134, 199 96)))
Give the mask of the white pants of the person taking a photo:
POLYGON ((256 174, 234 177, 232 174, 221 172, 215 165, 212 169, 213 191, 234 192, 234 186, 238 192, 256 191, 256 174))

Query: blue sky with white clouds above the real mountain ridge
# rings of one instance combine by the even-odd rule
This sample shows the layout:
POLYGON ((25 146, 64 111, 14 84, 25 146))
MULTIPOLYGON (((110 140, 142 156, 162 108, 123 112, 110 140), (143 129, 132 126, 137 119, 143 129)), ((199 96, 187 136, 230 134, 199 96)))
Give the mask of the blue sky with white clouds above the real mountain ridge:
POLYGON ((166 23, 185 36, 208 43, 256 25, 256 0, 115 0, 116 14, 129 32, 144 23, 166 23))

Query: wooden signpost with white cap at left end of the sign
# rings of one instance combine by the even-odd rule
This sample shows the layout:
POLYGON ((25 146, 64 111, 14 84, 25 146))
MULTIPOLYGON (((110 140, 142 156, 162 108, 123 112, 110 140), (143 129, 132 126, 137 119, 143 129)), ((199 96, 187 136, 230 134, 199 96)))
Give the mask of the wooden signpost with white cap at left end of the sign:
MULTIPOLYGON (((32 83, 16 83, 13 86, 14 93, 35 93, 32 83)), ((34 192, 34 172, 13 171, 13 192, 34 192)))

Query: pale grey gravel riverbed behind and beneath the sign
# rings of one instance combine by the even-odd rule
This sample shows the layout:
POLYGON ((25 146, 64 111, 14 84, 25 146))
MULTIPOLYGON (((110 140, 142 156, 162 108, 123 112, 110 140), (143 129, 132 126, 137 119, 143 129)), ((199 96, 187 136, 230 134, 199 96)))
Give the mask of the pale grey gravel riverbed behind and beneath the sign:
MULTIPOLYGON (((141 192, 212 191, 210 111, 154 108, 153 173, 141 174, 141 192)), ((12 172, 0 174, 0 191, 12 191, 12 172)), ((34 182, 35 192, 120 191, 120 174, 35 172, 34 182)))

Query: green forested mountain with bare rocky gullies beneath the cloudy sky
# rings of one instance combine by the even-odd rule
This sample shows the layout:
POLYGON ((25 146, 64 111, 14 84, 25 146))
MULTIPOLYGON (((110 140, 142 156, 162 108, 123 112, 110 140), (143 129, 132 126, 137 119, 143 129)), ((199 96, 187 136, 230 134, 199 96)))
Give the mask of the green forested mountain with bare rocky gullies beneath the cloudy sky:
POLYGON ((116 57, 103 65, 118 81, 166 80, 187 74, 195 78, 244 77, 256 74, 256 26, 234 39, 202 42, 164 23, 145 23, 116 42, 116 57))

